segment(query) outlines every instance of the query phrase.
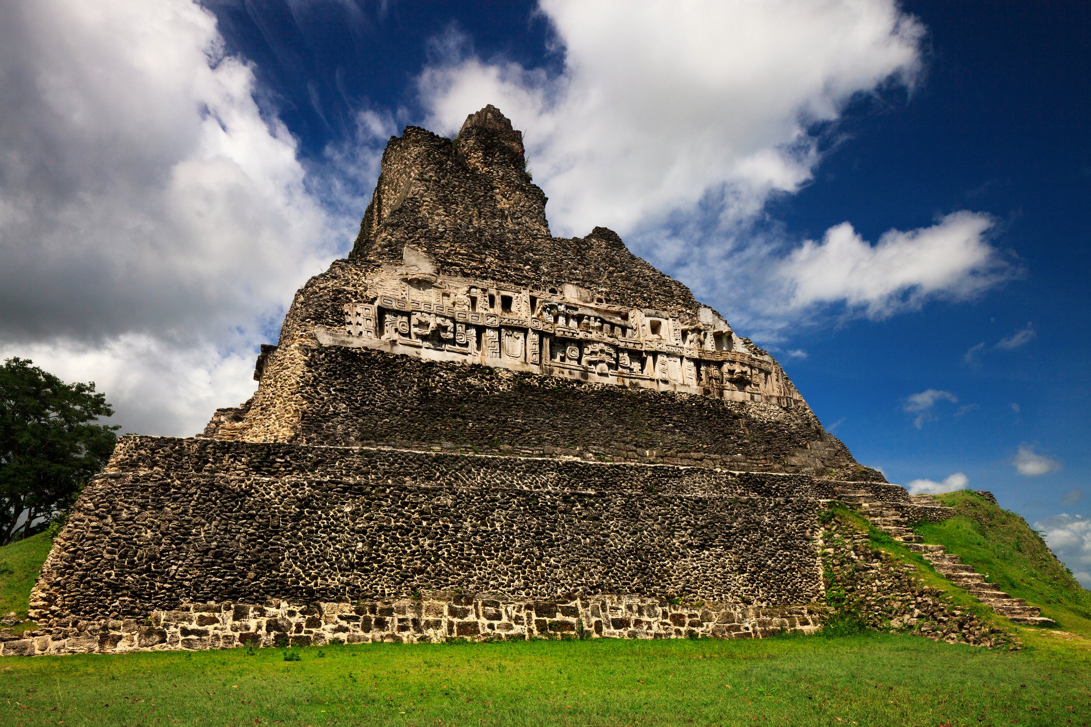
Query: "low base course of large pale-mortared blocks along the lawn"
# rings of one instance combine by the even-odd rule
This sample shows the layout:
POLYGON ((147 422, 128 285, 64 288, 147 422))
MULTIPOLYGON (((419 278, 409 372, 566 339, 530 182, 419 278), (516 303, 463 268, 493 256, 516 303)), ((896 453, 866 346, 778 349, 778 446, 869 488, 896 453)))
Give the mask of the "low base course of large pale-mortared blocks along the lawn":
POLYGON ((0 654, 41 655, 322 646, 367 642, 434 643, 525 639, 760 639, 812 633, 818 606, 762 608, 741 604, 675 604, 661 598, 600 595, 556 601, 505 601, 449 592, 418 598, 298 604, 185 604, 136 619, 71 619, 0 644, 0 654))

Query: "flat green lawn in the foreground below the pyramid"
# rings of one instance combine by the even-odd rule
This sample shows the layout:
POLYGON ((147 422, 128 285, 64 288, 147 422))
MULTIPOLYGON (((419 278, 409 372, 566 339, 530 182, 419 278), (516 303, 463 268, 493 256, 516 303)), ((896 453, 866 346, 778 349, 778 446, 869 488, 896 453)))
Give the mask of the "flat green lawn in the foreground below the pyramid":
POLYGON ((9 658, 0 723, 1082 725, 1091 652, 866 634, 9 658))

